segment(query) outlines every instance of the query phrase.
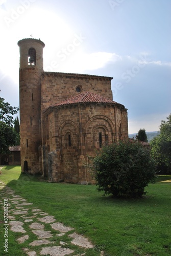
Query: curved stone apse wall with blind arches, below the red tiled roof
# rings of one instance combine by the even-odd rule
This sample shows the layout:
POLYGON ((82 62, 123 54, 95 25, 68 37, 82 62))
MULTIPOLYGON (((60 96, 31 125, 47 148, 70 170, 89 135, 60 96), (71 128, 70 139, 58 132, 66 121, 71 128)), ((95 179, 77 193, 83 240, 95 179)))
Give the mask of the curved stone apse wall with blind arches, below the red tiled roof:
POLYGON ((93 183, 85 166, 87 155, 94 156, 95 150, 100 150, 102 144, 119 139, 115 123, 121 127, 119 132, 128 139, 127 110, 114 104, 60 106, 52 112, 47 111, 46 115, 49 131, 49 139, 46 140, 49 144, 46 146, 50 149, 49 154, 53 153, 53 158, 56 154, 55 165, 48 166, 50 178, 54 181, 93 183))

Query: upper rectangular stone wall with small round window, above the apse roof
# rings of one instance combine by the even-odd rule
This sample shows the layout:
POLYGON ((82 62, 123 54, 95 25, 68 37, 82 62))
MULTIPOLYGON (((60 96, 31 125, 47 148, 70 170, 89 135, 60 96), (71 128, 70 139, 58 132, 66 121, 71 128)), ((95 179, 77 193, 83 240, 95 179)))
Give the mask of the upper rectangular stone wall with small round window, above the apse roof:
POLYGON ((90 91, 112 99, 112 77, 43 72, 41 80, 41 111, 69 99, 80 92, 90 91))

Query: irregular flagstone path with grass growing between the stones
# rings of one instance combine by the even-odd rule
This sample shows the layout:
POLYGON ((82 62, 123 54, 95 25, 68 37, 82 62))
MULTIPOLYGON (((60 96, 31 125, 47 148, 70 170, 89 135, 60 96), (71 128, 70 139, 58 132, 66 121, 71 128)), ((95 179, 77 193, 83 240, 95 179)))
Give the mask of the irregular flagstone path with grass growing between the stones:
MULTIPOLYGON (((26 255, 86 256, 88 249, 94 248, 93 244, 84 236, 76 233, 74 228, 64 226, 62 223, 57 222, 54 216, 50 216, 41 211, 41 209, 33 207, 32 203, 15 195, 14 191, 1 180, 0 197, 0 204, 3 206, 4 199, 8 199, 9 227, 13 232, 19 234, 16 242, 24 243, 22 249, 26 252, 26 255), (31 241, 30 233, 35 234, 35 240, 31 241), (75 252, 78 248, 82 248, 80 254, 75 252)), ((89 253, 88 255, 90 255, 89 253)), ((103 253, 101 251, 97 255, 102 256, 103 253)))

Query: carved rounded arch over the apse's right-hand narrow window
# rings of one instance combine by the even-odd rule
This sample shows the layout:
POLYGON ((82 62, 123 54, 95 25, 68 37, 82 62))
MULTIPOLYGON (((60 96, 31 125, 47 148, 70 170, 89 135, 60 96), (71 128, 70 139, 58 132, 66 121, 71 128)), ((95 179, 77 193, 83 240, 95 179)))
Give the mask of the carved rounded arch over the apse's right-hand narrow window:
MULTIPOLYGON (((111 129, 111 132, 112 132, 112 133, 115 133, 115 127, 114 127, 113 122, 111 121, 111 119, 110 119, 109 117, 106 117, 106 116, 104 116, 104 115, 96 115, 96 116, 91 117, 91 118, 88 120, 88 122, 86 123, 85 127, 84 127, 84 130, 83 130, 84 133, 87 133, 87 132, 88 132, 88 128, 89 128, 90 124, 91 124, 93 121, 95 121, 96 119, 106 121, 106 122, 109 124, 109 127, 110 127, 110 129, 111 129)), ((104 123, 98 123, 98 124, 96 124, 96 125, 104 125, 104 123)), ((105 126, 105 125, 104 125, 104 126, 105 126)), ((107 127, 106 127, 106 128, 107 128, 107 127)), ((92 128, 91 128, 91 131, 92 131, 92 128)), ((109 132, 109 131, 108 131, 108 132, 109 132)))

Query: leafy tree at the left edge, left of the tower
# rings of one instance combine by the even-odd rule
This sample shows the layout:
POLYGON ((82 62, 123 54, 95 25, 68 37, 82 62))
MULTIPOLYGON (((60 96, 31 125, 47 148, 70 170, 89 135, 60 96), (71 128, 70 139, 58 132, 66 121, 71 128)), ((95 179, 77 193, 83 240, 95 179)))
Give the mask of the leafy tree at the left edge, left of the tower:
POLYGON ((16 143, 13 115, 17 114, 18 110, 19 108, 12 107, 0 97, 0 153, 8 152, 8 147, 16 143))

